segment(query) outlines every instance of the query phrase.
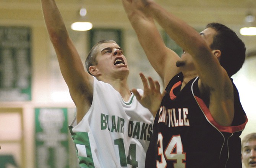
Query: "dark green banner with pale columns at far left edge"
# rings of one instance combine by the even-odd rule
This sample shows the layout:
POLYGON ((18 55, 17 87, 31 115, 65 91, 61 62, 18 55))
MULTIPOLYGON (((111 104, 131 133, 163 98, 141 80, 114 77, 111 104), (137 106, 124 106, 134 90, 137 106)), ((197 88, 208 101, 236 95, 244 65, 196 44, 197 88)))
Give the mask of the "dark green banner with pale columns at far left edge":
POLYGON ((0 26, 0 101, 31 100, 31 29, 0 26))

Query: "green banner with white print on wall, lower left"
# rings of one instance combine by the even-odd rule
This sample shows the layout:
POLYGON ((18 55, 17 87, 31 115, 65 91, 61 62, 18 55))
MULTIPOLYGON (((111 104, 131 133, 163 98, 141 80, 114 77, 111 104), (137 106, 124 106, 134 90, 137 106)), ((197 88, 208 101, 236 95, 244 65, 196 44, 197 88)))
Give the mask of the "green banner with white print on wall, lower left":
POLYGON ((68 168, 67 108, 36 108, 36 168, 68 168))

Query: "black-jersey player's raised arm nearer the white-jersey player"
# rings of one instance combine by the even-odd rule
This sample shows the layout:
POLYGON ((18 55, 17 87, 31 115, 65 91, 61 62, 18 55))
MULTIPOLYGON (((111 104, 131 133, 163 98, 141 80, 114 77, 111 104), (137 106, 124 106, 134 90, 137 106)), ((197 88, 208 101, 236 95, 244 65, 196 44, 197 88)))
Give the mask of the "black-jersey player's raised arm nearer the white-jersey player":
POLYGON ((170 79, 179 72, 176 61, 180 58, 165 46, 149 13, 136 9, 134 1, 122 0, 122 2, 149 62, 164 80, 166 86, 170 79))

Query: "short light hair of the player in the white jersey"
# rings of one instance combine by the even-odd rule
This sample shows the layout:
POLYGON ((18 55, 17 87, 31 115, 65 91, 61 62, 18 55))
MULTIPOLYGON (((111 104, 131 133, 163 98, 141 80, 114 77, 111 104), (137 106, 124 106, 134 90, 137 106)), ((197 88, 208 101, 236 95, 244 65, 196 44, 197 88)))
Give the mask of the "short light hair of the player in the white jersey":
MULTIPOLYGON (((101 44, 104 44, 104 43, 115 43, 117 44, 117 42, 115 42, 114 40, 100 40, 99 42, 97 42, 97 44, 95 44, 92 49, 90 50, 89 54, 87 55, 87 58, 85 60, 85 67, 86 67, 86 70, 89 74, 90 71, 89 71, 89 67, 92 66, 92 65, 97 65, 98 62, 96 60, 96 56, 98 54, 98 50, 99 50, 99 46, 101 44)), ((91 74, 92 75, 92 74, 91 74)))

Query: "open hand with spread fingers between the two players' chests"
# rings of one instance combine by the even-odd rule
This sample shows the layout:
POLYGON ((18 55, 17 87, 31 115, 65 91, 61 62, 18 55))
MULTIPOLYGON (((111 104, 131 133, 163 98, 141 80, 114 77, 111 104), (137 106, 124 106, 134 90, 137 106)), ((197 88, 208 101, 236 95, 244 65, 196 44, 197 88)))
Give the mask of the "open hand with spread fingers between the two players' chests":
POLYGON ((136 99, 141 103, 141 105, 148 108, 152 115, 155 116, 162 102, 162 98, 166 94, 166 91, 164 90, 161 94, 160 84, 158 81, 153 81, 151 77, 148 77, 148 84, 147 79, 143 73, 139 73, 139 76, 143 82, 143 95, 140 95, 136 89, 132 89, 131 91, 135 95, 136 99))

